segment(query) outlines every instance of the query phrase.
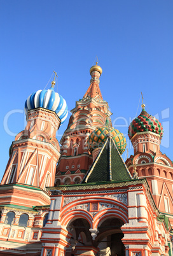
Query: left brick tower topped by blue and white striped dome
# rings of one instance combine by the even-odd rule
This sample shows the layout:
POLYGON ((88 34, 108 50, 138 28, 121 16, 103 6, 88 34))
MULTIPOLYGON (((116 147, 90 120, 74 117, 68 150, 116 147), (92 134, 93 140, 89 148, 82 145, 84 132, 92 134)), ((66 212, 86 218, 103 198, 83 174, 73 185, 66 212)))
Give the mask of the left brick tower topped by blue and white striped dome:
MULTIPOLYGON (((56 74, 55 74, 56 75, 56 74)), ((56 132, 67 117, 66 101, 54 91, 38 90, 25 102, 27 125, 10 148, 10 160, 1 185, 22 183, 45 190, 53 186, 60 157, 56 132)))

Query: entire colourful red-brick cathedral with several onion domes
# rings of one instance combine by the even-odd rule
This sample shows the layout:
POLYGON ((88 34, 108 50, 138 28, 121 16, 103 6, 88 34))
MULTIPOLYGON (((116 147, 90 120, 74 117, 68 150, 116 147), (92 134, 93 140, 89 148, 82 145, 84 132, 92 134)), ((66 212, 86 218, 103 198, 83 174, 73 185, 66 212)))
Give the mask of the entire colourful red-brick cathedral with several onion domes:
POLYGON ((173 255, 173 164, 160 152, 162 124, 142 103, 124 162, 126 139, 112 126, 97 62, 90 75, 60 145, 68 110, 55 78, 25 101, 27 125, 0 186, 0 255, 173 255))

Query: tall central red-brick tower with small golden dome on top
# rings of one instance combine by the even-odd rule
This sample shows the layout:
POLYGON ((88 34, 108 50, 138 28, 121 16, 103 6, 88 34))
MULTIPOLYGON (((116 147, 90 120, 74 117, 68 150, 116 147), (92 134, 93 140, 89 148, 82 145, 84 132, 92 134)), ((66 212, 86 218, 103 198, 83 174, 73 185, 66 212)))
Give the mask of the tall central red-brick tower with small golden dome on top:
POLYGON ((105 124, 107 114, 111 115, 100 92, 99 79, 102 68, 97 62, 90 68, 90 75, 90 86, 83 98, 76 101, 67 129, 60 140, 62 148, 55 185, 81 182, 93 162, 87 147, 88 136, 96 127, 105 124))

